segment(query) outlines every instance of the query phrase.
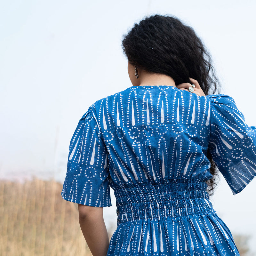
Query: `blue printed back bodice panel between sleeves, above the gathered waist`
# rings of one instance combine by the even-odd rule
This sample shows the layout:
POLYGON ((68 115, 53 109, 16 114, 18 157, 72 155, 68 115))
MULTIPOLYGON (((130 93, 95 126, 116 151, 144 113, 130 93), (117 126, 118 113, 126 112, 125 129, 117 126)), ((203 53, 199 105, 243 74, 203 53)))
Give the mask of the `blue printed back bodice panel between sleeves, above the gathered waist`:
POLYGON ((209 178, 200 175, 209 166, 209 107, 206 97, 164 85, 131 86, 96 102, 113 182, 209 178))

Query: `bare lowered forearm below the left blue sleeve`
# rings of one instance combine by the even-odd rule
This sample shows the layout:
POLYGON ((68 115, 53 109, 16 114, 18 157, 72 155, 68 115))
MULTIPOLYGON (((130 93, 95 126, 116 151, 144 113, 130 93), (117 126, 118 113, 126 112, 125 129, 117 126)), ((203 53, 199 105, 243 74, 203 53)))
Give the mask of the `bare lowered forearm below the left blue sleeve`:
POLYGON ((79 223, 86 243, 93 256, 106 256, 109 246, 103 207, 78 204, 79 223))

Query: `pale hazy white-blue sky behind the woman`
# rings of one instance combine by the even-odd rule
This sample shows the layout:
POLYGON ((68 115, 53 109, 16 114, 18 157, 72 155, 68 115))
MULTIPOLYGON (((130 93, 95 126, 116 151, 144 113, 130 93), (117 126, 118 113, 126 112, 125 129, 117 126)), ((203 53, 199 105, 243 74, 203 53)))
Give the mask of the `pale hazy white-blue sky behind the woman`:
MULTIPOLYGON (((79 119, 96 100, 132 85, 122 37, 146 15, 174 15, 195 29, 221 93, 256 126, 255 10, 252 0, 1 1, 0 178, 64 181, 79 119)), ((234 196, 221 178, 211 199, 231 232, 251 240, 255 195, 256 179, 234 196)), ((115 206, 104 211, 115 222, 115 206)))

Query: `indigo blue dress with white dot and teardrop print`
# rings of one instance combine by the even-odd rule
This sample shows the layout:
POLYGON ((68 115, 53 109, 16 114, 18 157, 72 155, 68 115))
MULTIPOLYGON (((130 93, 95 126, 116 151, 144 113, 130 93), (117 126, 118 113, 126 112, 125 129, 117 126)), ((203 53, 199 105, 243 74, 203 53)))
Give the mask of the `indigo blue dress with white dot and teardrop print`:
POLYGON ((239 255, 209 201, 212 157, 233 194, 256 176, 256 127, 233 98, 131 86, 93 103, 72 137, 65 200, 111 206, 108 256, 239 255))

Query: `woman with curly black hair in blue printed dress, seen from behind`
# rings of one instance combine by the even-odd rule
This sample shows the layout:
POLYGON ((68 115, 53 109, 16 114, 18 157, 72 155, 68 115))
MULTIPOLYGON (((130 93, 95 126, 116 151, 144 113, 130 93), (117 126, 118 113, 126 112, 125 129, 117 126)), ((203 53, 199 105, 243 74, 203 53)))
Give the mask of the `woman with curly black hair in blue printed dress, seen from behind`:
POLYGON ((216 166, 233 194, 256 175, 256 127, 218 80, 194 30, 154 15, 124 37, 131 87, 93 103, 70 142, 62 197, 94 256, 239 255, 209 201, 216 166), (215 164, 214 164, 215 163, 215 164), (115 191, 110 244, 103 207, 115 191))

